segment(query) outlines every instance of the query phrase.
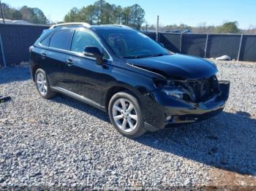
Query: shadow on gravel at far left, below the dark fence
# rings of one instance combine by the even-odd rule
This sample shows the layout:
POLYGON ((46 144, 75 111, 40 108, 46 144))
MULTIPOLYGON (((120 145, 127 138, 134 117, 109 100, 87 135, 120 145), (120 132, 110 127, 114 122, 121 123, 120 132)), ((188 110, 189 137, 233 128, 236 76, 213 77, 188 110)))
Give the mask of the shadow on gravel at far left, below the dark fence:
POLYGON ((29 66, 14 66, 0 69, 0 84, 31 79, 29 66))

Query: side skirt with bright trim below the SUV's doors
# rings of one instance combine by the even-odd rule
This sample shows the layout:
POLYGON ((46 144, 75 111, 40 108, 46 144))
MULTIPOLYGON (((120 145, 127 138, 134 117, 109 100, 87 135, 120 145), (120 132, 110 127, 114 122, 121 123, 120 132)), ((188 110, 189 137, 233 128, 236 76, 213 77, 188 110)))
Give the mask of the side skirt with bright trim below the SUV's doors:
POLYGON ((92 101, 90 100, 89 98, 85 98, 83 97, 82 95, 78 95, 76 93, 72 93, 71 91, 69 90, 66 90, 62 87, 57 87, 57 86, 50 86, 50 88, 56 92, 59 92, 59 93, 63 93, 64 95, 67 95, 71 98, 75 98, 77 99, 78 101, 82 101, 83 103, 86 103, 86 104, 89 104, 91 106, 94 106, 96 107, 97 109, 100 109, 102 111, 105 112, 105 106, 101 106, 100 104, 98 104, 97 102, 95 101, 92 101))

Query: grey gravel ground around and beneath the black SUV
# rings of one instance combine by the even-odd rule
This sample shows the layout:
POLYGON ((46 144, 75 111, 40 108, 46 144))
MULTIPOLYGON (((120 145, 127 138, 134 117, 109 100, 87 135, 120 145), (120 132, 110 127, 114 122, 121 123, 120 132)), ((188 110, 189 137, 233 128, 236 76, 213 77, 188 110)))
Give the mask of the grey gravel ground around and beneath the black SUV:
POLYGON ((256 186, 256 63, 217 65, 222 114, 135 140, 91 106, 39 97, 28 67, 0 70, 0 187, 256 186))

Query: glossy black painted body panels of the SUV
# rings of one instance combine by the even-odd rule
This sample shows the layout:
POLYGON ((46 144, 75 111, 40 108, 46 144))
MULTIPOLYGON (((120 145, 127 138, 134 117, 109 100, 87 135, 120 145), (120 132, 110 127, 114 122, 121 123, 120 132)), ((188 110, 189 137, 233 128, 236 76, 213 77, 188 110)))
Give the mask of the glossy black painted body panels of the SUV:
MULTIPOLYGON (((76 29, 72 26, 66 28, 74 31, 76 29)), ((97 36, 97 30, 127 29, 97 26, 86 30, 91 30, 110 54, 110 59, 103 61, 102 66, 99 66, 95 59, 83 54, 44 47, 40 44, 45 36, 52 35, 57 30, 59 28, 46 31, 31 47, 31 75, 34 79, 35 69, 45 70, 51 87, 61 87, 78 94, 88 100, 87 104, 107 112, 110 93, 116 89, 129 90, 140 101, 148 130, 164 128, 168 123, 199 121, 203 114, 221 112, 225 106, 229 93, 229 83, 226 82, 219 86, 221 93, 214 100, 197 104, 166 95, 154 84, 155 80, 166 81, 176 77, 181 79, 211 77, 217 73, 217 67, 209 61, 180 54, 140 59, 120 58, 103 39, 97 36), (173 116, 172 120, 166 121, 167 116, 173 116)), ((67 95, 72 96, 72 93, 67 95)))

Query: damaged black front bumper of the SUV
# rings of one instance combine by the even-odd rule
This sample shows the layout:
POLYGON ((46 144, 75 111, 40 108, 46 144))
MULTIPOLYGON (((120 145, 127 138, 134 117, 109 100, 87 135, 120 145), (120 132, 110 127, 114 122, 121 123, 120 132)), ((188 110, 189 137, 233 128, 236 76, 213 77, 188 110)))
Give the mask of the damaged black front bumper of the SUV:
POLYGON ((220 93, 201 103, 189 103, 157 91, 143 101, 147 130, 159 130, 175 123, 206 120, 222 112, 229 96, 230 82, 219 81, 220 93))

